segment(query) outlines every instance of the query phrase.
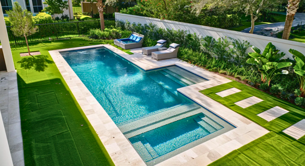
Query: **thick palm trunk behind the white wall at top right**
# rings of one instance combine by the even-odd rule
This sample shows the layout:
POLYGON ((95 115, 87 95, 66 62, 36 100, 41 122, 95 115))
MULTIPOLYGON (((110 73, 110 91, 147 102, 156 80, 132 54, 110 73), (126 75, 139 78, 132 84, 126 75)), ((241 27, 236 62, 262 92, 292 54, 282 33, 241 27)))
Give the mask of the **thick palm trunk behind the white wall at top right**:
POLYGON ((284 27, 282 39, 285 40, 289 39, 293 18, 294 15, 296 14, 296 10, 299 8, 299 3, 300 0, 288 0, 287 15, 286 15, 286 21, 285 21, 285 27, 284 27))

